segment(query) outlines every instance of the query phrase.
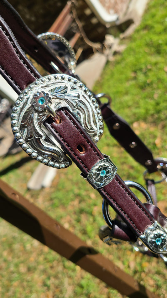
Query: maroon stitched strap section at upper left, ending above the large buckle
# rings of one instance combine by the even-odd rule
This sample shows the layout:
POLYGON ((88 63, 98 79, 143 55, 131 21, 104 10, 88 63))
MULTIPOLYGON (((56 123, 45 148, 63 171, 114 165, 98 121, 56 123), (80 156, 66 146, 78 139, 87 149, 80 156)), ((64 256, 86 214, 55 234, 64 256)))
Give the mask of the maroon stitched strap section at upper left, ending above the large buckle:
POLYGON ((41 75, 19 47, 12 31, 0 16, 0 74, 20 94, 41 75))

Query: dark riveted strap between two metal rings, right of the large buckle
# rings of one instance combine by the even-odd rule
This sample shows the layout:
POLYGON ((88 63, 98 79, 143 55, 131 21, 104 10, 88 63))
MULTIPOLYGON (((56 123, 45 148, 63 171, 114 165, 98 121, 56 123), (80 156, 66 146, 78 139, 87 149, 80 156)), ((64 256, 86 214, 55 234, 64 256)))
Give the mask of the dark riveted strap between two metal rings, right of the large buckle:
POLYGON ((100 105, 103 119, 111 135, 121 146, 140 164, 148 169, 149 173, 157 172, 157 165, 152 152, 140 140, 128 123, 112 111, 108 104, 100 105))

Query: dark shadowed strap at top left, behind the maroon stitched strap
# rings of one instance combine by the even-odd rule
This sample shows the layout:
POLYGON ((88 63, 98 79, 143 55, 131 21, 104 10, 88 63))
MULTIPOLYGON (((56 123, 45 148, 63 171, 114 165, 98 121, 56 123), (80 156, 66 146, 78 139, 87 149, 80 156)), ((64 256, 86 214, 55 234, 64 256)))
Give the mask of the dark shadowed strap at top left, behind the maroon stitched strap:
POLYGON ((57 65, 61 72, 73 76, 72 72, 49 50, 44 43, 23 22, 18 12, 6 0, 0 0, 0 14, 12 30, 18 44, 50 74, 54 74, 50 62, 57 65))

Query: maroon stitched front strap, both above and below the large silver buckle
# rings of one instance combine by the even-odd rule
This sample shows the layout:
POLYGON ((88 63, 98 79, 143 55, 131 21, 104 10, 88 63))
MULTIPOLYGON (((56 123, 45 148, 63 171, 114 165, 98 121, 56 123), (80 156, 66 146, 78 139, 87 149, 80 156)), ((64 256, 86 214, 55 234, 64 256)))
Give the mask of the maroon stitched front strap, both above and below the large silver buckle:
MULTIPOLYGON (((0 25, 0 72, 19 94, 28 84, 40 78, 40 74, 26 58, 2 18, 0 25)), ((92 166, 104 156, 68 111, 59 111, 59 116, 62 119, 60 124, 51 120, 45 126, 86 176, 92 166), (84 154, 77 150, 79 144, 86 148, 84 154)), ((98 191, 136 236, 142 235, 145 228, 154 222, 152 214, 118 175, 98 191)))

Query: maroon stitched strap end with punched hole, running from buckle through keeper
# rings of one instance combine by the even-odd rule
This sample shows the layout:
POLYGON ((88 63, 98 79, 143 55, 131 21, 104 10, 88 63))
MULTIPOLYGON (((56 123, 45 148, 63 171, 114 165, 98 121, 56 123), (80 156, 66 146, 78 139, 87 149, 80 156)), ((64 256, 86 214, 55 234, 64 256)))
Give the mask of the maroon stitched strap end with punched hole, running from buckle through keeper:
MULTIPOLYGON (((59 111, 58 115, 61 118, 60 124, 48 119, 44 125, 87 176, 94 164, 104 156, 68 111, 59 111), (84 147, 84 153, 78 151, 79 145, 84 147)), ((136 236, 142 235, 146 227, 154 222, 151 213, 117 174, 108 185, 98 191, 136 236)))

